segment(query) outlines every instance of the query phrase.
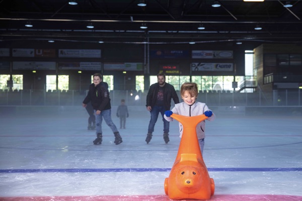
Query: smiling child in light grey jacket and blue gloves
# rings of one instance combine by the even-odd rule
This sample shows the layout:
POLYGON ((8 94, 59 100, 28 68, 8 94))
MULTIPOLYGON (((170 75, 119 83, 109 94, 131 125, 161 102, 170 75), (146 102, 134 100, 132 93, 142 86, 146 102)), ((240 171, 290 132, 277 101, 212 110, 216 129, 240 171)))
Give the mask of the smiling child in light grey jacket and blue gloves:
MULTIPOLYGON (((164 118, 171 122, 173 118, 170 117, 173 113, 182 116, 198 116, 204 114, 208 121, 213 121, 215 119, 214 113, 204 104, 197 102, 198 88, 196 83, 186 82, 181 85, 180 88, 181 98, 184 102, 176 104, 175 107, 171 111, 166 111, 164 118)), ((179 123, 179 132, 182 137, 183 126, 179 123)), ((196 134, 200 146, 201 154, 203 153, 204 147, 204 138, 205 138, 205 121, 198 123, 196 127, 196 134)))

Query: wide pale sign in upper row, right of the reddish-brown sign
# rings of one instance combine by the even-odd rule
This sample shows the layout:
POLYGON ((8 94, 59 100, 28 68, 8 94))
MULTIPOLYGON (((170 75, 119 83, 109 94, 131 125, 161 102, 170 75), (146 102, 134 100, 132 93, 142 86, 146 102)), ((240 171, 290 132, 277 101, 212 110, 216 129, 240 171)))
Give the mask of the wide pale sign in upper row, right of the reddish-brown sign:
POLYGON ((58 55, 62 58, 101 58, 101 50, 59 49, 58 55))

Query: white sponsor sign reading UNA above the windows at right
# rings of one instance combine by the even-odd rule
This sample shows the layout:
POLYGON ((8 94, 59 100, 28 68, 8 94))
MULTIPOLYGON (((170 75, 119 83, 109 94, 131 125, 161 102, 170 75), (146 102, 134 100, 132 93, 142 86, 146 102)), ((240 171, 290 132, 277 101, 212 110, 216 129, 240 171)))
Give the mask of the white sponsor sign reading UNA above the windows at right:
POLYGON ((191 71, 233 71, 233 63, 191 63, 191 71))

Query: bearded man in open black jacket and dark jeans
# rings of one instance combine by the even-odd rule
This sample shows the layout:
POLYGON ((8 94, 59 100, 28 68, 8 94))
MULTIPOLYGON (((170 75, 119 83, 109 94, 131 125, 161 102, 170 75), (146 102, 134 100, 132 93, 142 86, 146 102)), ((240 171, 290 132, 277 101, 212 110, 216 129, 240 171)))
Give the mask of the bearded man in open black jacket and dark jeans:
POLYGON ((157 75, 158 82, 152 84, 148 90, 146 98, 147 111, 150 111, 151 119, 149 122, 148 133, 146 137, 147 144, 152 139, 152 133, 154 132, 154 126, 157 122, 159 113, 161 113, 164 122, 164 140, 168 144, 169 140, 169 127, 170 124, 165 120, 165 111, 171 108, 171 99, 173 98, 174 104, 179 103, 178 95, 174 89, 174 86, 166 83, 166 75, 159 73, 157 75))

